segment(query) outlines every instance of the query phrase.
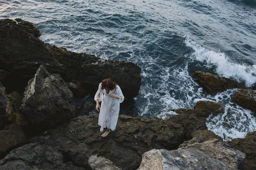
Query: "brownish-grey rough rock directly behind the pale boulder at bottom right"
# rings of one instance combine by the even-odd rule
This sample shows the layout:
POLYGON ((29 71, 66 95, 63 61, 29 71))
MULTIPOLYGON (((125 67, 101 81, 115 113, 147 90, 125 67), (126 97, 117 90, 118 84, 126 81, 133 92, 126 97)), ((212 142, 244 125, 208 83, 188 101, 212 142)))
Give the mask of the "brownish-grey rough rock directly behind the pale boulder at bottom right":
POLYGON ((231 147, 225 142, 219 142, 218 139, 211 139, 201 143, 194 142, 191 139, 180 145, 180 149, 196 148, 204 153, 207 153, 212 158, 218 159, 224 163, 229 164, 234 168, 242 167, 244 164, 245 154, 235 148, 231 147))

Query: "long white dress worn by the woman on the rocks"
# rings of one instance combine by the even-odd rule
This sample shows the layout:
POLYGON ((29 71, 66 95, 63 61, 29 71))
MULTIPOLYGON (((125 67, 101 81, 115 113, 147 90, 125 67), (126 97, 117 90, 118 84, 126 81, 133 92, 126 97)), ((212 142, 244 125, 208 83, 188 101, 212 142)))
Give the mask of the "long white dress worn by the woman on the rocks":
POLYGON ((102 90, 102 84, 99 83, 99 89, 94 96, 94 100, 97 101, 97 99, 99 99, 99 102, 101 102, 98 122, 98 124, 101 126, 101 132, 105 127, 111 130, 116 129, 116 123, 120 110, 120 103, 122 103, 125 99, 119 85, 116 85, 116 88, 110 90, 108 94, 115 94, 116 96, 120 97, 119 99, 116 99, 114 97, 108 97, 106 95, 105 89, 102 90), (98 94, 99 98, 97 98, 98 94))

